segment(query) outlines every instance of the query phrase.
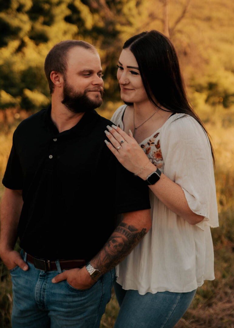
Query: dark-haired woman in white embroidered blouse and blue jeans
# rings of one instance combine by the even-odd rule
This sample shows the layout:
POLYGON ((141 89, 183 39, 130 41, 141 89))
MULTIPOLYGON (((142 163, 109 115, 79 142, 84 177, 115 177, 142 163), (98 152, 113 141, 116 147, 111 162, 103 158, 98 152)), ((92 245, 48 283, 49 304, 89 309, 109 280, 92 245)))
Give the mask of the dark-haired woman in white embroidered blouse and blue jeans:
POLYGON ((187 101, 174 47, 163 34, 131 37, 117 66, 126 105, 114 113, 105 142, 149 185, 152 229, 117 267, 115 327, 174 327, 197 287, 214 279, 214 153, 187 101))

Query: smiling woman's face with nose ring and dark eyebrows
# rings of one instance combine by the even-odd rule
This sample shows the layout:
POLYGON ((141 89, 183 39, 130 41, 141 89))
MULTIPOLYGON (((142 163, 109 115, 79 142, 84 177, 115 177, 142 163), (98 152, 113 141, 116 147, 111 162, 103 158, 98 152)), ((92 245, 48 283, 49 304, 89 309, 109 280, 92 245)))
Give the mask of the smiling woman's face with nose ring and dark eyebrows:
POLYGON ((117 79, 121 88, 121 99, 130 103, 148 100, 136 58, 128 48, 123 49, 121 52, 117 66, 117 79))

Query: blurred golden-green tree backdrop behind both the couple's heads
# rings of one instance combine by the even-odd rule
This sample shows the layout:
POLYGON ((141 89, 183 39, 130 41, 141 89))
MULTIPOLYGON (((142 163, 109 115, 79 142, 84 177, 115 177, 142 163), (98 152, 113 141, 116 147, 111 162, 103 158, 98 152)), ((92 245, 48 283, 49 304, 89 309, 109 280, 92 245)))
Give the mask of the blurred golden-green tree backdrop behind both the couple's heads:
MULTIPOLYGON (((174 43, 192 99, 234 103, 232 0, 9 0, 0 2, 0 108, 40 109, 50 101, 44 60, 65 39, 94 44, 105 99, 119 98, 116 62, 124 41, 156 29, 174 43), (225 2, 225 6, 224 6, 225 2)), ((196 101, 195 101, 196 102, 196 101)))

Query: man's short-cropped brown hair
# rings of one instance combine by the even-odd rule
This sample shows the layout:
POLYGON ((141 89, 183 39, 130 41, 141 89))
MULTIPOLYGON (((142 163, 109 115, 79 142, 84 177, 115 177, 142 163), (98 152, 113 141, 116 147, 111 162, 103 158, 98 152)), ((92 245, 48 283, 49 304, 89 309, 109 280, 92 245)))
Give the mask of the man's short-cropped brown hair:
POLYGON ((67 53, 74 47, 81 47, 91 51, 96 51, 94 46, 92 46, 90 43, 81 40, 65 40, 54 45, 46 56, 44 65, 44 70, 49 83, 50 94, 52 94, 54 90, 54 84, 50 79, 50 73, 55 71, 66 75, 67 53))

